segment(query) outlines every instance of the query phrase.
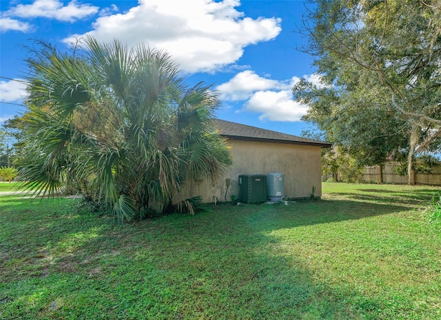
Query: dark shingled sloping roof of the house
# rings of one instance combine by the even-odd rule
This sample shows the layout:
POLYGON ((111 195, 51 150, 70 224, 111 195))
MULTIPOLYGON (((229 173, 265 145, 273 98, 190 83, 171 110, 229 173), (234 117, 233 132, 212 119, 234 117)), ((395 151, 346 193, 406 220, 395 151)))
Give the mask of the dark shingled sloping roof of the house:
POLYGON ((289 143, 292 145, 313 145, 322 148, 331 147, 331 144, 327 142, 291 136, 290 134, 282 134, 277 131, 260 129, 249 125, 240 125, 240 123, 236 122, 215 119, 214 123, 219 130, 220 136, 232 140, 278 142, 289 143))

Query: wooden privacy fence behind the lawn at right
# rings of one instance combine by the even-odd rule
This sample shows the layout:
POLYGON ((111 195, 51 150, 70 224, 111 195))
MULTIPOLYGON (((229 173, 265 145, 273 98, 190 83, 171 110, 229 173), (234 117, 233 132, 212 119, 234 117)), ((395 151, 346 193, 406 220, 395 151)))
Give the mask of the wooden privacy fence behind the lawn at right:
MULTIPOLYGON (((396 167, 398 166, 398 163, 388 162, 380 166, 365 167, 363 180, 365 180, 365 182, 407 184, 409 182, 409 176, 398 175, 398 173, 396 173, 396 167)), ((440 186, 441 166, 433 166, 431 173, 413 173, 411 182, 413 184, 440 186)))

